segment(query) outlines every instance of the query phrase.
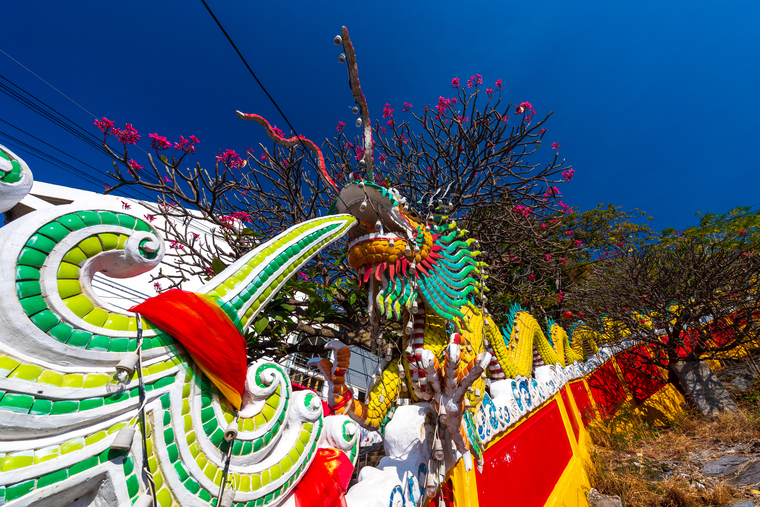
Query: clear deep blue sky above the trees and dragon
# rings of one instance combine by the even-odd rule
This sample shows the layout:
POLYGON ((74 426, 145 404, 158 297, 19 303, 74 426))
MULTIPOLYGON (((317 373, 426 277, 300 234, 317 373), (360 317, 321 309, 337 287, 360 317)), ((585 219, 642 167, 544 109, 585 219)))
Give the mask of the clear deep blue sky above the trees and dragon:
MULTIPOLYGON (((539 115, 553 110, 545 140, 562 143, 576 169, 563 187, 573 206, 638 207, 661 229, 691 225, 700 210, 760 204, 756 0, 207 1, 299 133, 317 142, 355 119, 332 43, 346 25, 374 118, 386 102, 398 112, 404 101, 435 103, 451 95, 452 77, 474 73, 486 83, 501 78, 509 101, 528 100, 539 115)), ((95 115, 133 123, 145 148, 149 132, 195 134, 196 158, 211 166, 219 149, 242 152, 264 140, 236 109, 285 127, 200 0, 5 2, 3 21, 0 49, 95 115)), ((0 69, 92 124, 2 54, 0 69)), ((100 170, 110 166, 5 94, 0 119, 100 170)), ((0 131, 42 147, 7 124, 0 131)), ((102 190, 18 153, 37 180, 102 190)))

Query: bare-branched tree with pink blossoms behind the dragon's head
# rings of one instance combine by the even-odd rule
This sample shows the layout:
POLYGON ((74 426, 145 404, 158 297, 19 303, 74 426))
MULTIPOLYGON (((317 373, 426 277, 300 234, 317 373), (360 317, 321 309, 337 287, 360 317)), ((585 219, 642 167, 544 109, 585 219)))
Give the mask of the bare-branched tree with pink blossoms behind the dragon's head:
MULTIPOLYGON (((322 169, 338 185, 359 175, 396 188, 422 212, 455 218, 479 240, 484 260, 497 275, 489 278, 492 294, 522 290, 507 282, 518 271, 526 287, 546 285, 558 263, 580 248, 567 238, 556 239, 570 212, 561 186, 572 180, 574 170, 560 157, 559 145, 541 149, 551 113, 538 117, 530 102, 503 100, 500 79, 486 85, 476 74, 464 84, 456 78, 445 83, 447 96, 430 104, 385 104, 378 108, 382 119, 372 123, 353 47, 344 44, 344 49, 359 128, 352 121, 335 126, 334 137, 322 145, 324 168, 315 150, 301 141, 226 149, 207 167, 193 159, 197 138, 177 141, 158 134, 148 136, 151 153, 141 164, 130 155, 140 139, 131 125, 120 130, 108 120, 96 122, 104 144, 116 136, 123 145, 123 151, 111 151, 118 180, 113 189, 141 186, 154 192, 154 215, 166 219, 169 254, 181 257, 180 273, 162 273, 154 281, 157 290, 212 276, 259 238, 324 215, 336 196, 319 177, 322 169), (199 220, 211 231, 206 237, 193 231, 199 220)), ((297 139, 276 126, 266 128, 272 138, 297 139)), ((281 295, 267 312, 280 312, 279 320, 256 323, 257 347, 264 353, 292 352, 282 348, 282 337, 290 333, 306 344, 331 338, 369 344, 366 304, 360 301, 366 296, 357 290, 344 244, 321 252, 281 295), (304 301, 297 291, 310 297, 304 301)))

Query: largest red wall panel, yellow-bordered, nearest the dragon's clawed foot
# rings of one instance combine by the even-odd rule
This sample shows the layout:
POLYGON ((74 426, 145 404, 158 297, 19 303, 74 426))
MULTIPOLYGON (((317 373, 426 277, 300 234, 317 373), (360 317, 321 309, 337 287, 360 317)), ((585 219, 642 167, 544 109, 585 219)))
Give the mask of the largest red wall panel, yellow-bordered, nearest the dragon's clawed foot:
POLYGON ((572 454, 553 400, 486 451, 476 472, 480 507, 543 507, 572 454))

